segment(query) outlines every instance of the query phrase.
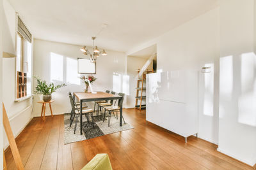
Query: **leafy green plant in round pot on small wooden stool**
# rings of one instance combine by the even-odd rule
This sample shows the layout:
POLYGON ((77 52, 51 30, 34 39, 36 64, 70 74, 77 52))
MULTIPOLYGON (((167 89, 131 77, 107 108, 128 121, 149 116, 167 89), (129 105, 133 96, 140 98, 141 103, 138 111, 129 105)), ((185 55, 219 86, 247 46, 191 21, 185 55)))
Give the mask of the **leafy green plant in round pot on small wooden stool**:
POLYGON ((35 90, 35 94, 42 94, 43 100, 45 102, 51 101, 52 99, 52 93, 56 92, 57 89, 60 89, 63 86, 66 86, 64 83, 61 85, 54 85, 54 83, 47 84, 45 80, 41 80, 37 76, 33 76, 36 78, 37 86, 35 90))

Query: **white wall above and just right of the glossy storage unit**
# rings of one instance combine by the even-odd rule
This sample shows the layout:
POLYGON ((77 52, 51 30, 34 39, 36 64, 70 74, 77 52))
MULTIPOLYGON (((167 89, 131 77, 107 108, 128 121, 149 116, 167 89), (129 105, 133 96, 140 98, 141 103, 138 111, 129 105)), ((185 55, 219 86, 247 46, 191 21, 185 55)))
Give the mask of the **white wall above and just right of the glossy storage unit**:
POLYGON ((212 143, 218 143, 219 38, 219 9, 216 8, 156 39, 134 47, 127 53, 129 55, 157 44, 158 71, 182 69, 198 71, 200 87, 198 137, 212 143), (205 64, 214 66, 212 73, 200 73, 205 64))

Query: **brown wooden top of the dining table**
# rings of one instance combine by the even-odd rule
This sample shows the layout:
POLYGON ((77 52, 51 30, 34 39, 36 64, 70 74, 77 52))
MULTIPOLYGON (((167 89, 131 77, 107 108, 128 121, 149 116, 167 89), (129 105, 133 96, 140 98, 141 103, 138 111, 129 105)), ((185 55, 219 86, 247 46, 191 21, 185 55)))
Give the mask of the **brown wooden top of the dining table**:
POLYGON ((79 99, 79 101, 82 99, 102 99, 102 98, 109 98, 109 97, 120 97, 118 95, 114 94, 108 94, 106 92, 97 92, 97 94, 92 94, 91 92, 85 93, 85 92, 74 92, 74 95, 79 99))

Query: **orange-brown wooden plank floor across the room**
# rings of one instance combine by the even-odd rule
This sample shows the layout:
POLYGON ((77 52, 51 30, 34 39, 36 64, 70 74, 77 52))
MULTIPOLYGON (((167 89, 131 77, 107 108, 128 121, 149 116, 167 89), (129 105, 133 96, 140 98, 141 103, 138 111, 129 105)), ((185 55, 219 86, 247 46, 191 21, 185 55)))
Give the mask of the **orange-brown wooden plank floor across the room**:
MULTIPOLYGON (((64 145, 63 115, 33 118, 16 138, 25 169, 81 169, 97 153, 108 153, 113 169, 253 169, 216 151, 202 139, 184 138, 153 124, 145 111, 124 110, 134 129, 64 145)), ((78 131, 77 131, 78 132, 78 131)), ((10 148, 8 169, 15 169, 10 148)))

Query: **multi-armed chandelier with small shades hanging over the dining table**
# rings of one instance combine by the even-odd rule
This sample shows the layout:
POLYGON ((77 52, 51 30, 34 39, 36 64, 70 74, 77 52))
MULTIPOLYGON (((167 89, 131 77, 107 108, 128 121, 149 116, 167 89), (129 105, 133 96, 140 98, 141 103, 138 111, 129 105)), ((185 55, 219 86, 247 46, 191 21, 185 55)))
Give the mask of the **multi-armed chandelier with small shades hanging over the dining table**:
POLYGON ((94 40, 96 39, 95 36, 92 37, 92 52, 86 48, 86 46, 83 46, 80 50, 83 52, 83 55, 90 56, 91 62, 96 62, 97 57, 100 55, 107 55, 105 50, 100 51, 98 49, 98 46, 94 46, 94 40))

